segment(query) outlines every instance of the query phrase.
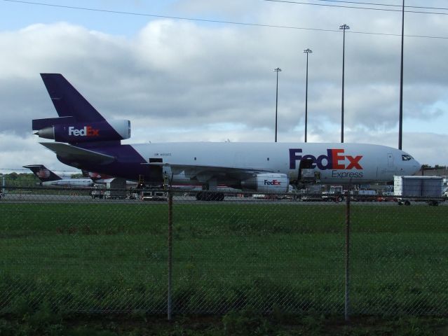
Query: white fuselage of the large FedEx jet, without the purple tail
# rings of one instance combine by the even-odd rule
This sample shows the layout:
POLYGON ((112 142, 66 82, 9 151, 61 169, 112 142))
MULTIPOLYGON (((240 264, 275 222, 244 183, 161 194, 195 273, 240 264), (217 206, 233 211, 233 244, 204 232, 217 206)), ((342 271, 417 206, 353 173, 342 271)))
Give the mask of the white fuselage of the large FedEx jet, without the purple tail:
POLYGON ((220 171, 231 175, 232 169, 286 174, 294 181, 302 160, 311 161, 321 183, 393 181, 394 175, 412 175, 421 167, 403 151, 372 144, 196 142, 132 146, 147 162, 151 158, 163 162, 164 172, 173 174, 173 183, 187 183, 191 172, 198 177, 203 170, 208 175, 205 180, 214 170, 219 177, 220 171))

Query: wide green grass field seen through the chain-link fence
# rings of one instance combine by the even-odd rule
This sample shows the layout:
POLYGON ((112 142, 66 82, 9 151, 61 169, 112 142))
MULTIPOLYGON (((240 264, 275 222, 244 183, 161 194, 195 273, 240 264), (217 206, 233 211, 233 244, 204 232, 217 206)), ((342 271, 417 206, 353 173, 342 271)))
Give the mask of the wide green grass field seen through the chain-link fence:
MULTIPOLYGON (((3 313, 166 311, 168 205, 0 203, 3 313)), ((353 314, 448 313, 448 207, 351 207, 353 314)), ((344 311, 344 205, 174 204, 175 313, 344 311)))

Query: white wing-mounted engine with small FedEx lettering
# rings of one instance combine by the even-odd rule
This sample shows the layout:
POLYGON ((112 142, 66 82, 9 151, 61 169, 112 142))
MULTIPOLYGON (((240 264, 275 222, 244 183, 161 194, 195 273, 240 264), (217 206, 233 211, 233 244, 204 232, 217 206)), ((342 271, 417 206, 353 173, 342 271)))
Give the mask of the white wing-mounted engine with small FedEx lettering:
POLYGON ((260 193, 287 193, 290 179, 286 174, 263 173, 254 174, 250 179, 241 181, 244 190, 260 193))

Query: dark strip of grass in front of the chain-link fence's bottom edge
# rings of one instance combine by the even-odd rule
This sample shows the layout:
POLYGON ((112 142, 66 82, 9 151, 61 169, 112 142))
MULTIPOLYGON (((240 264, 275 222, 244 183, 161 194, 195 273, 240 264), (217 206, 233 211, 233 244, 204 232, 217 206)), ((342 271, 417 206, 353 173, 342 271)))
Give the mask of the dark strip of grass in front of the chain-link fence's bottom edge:
POLYGON ((69 314, 57 316, 40 309, 23 318, 0 318, 0 335, 191 335, 191 336, 361 336, 361 335, 447 335, 446 317, 378 318, 359 316, 349 323, 339 316, 306 316, 275 313, 269 316, 251 311, 229 311, 224 316, 163 316, 145 314, 69 314))

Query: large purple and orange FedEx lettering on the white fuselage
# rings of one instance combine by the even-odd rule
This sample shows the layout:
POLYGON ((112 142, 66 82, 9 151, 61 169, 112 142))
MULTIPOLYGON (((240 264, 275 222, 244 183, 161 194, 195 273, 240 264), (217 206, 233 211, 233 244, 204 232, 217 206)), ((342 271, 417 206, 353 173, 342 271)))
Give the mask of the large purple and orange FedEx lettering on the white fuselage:
POLYGON ((318 167, 320 170, 363 169, 360 164, 362 155, 344 155, 344 149, 327 149, 327 155, 319 155, 317 158, 314 155, 302 155, 301 153, 301 148, 290 148, 290 169, 296 169, 297 160, 312 160, 313 165, 311 165, 311 168, 318 167))

